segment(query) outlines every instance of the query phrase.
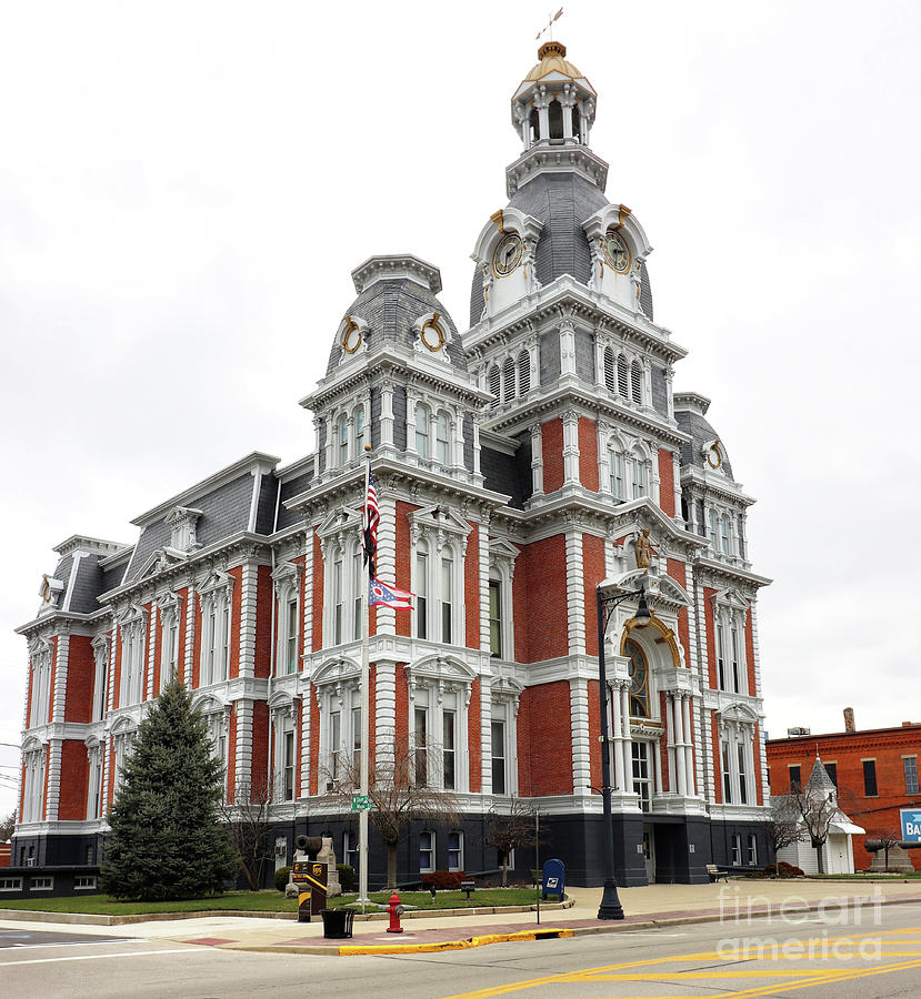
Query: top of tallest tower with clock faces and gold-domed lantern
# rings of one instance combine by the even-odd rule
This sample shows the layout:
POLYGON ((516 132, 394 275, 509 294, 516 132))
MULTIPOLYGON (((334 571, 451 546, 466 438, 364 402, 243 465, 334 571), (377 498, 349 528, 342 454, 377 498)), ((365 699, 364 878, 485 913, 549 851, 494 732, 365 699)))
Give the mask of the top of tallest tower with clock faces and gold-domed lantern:
POLYGON ((608 164, 588 148, 598 94, 561 42, 545 42, 538 58, 512 95, 524 151, 505 171, 508 205, 473 250, 470 325, 563 274, 652 320, 652 248, 630 209, 604 196, 608 164))

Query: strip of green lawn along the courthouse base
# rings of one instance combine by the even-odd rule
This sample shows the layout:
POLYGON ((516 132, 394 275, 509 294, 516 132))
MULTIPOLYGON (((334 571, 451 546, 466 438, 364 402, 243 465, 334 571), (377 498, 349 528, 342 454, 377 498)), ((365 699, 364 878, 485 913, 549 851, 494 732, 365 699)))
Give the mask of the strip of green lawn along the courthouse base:
MULTIPOLYGON (((386 905, 389 891, 374 891, 371 900, 386 905)), ((432 901, 428 891, 400 894, 406 905, 420 909, 460 909, 470 906, 523 906, 534 901, 530 888, 481 888, 473 891, 470 901, 463 891, 439 891, 432 901)), ((330 899, 330 908, 353 906, 356 897, 347 895, 330 899)), ((296 912, 297 902, 284 897, 282 891, 229 891, 208 898, 192 898, 183 901, 128 902, 108 898, 104 895, 83 895, 76 898, 6 899, 0 900, 0 909, 28 909, 33 912, 89 912, 101 916, 136 916, 147 912, 296 912)), ((371 911, 374 911, 371 909, 371 911)))

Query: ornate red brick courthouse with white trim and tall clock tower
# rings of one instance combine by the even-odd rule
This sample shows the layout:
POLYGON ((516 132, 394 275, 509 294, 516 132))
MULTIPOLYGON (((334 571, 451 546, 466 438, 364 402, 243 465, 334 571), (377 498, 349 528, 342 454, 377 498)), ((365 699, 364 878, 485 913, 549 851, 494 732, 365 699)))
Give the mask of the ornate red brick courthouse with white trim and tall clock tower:
MULTIPOLYGON (((464 332, 438 268, 370 256, 322 345, 326 376, 301 400, 312 453, 284 466, 248 454, 137 516, 133 541, 74 534, 54 548, 19 629, 14 867, 99 861, 138 725, 177 674, 228 799, 269 789, 279 860, 300 833, 329 833, 354 858, 336 786, 360 733, 366 444, 378 576, 417 595, 412 610, 371 615, 372 758, 411 746, 431 761, 420 779, 461 813, 412 825, 400 880, 495 867, 483 823, 520 796, 540 806, 544 856, 573 884, 601 884, 601 581, 625 593, 642 579, 653 612, 634 627, 624 602, 607 638, 621 884, 770 859, 755 614, 769 581, 749 561, 753 500, 709 400, 673 387, 687 351, 654 321, 639 218, 605 195, 597 102, 565 47, 541 46, 511 100, 508 203, 470 233, 464 332)), ((372 887, 383 856, 372 831, 372 887)))

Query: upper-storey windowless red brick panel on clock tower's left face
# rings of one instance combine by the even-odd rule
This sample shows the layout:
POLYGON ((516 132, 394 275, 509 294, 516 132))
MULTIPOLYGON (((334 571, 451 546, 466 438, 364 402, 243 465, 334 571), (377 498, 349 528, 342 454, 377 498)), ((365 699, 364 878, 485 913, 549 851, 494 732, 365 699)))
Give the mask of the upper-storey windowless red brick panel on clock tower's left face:
POLYGON ((521 549, 515 562, 513 587, 518 660, 534 663, 567 655, 569 613, 565 538, 562 534, 525 545, 521 549), (530 606, 538 607, 538 613, 529 613, 530 606))

